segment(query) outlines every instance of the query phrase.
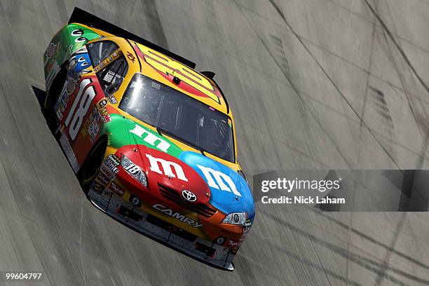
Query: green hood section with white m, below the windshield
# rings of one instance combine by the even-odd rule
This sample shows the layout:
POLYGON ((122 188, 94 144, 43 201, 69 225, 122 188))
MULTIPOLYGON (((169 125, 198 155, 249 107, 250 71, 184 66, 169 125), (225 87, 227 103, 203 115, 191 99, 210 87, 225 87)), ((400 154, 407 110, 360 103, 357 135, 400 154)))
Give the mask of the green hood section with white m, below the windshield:
POLYGON ((109 136, 109 145, 111 147, 121 148, 125 145, 142 144, 151 149, 164 151, 176 158, 182 153, 182 149, 167 137, 159 135, 158 132, 154 132, 121 115, 111 114, 110 116, 111 121, 102 125, 100 134, 109 136))

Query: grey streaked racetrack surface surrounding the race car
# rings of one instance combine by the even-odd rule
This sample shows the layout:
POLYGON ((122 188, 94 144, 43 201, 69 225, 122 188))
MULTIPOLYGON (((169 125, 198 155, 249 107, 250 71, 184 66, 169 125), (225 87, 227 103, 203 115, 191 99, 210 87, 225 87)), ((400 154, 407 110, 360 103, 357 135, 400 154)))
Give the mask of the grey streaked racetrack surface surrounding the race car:
POLYGON ((215 71, 250 178, 429 166, 429 1, 1 0, 0 271, 43 271, 34 285, 429 284, 423 212, 258 203, 227 272, 98 211, 31 88, 44 88, 42 55, 74 6, 215 71))

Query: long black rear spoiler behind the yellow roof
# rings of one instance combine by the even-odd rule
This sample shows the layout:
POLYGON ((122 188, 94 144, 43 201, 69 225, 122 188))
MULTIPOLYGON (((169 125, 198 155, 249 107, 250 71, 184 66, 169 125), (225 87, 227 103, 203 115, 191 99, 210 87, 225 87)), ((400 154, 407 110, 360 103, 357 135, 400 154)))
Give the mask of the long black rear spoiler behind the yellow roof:
POLYGON ((137 43, 141 43, 142 45, 147 46, 148 48, 157 50, 158 52, 163 53, 164 55, 168 55, 168 57, 171 57, 172 59, 177 60, 177 62, 182 62, 182 64, 186 64, 188 67, 191 67, 191 69, 195 69, 196 67, 195 62, 186 60, 184 57, 181 57, 179 55, 176 55, 175 53, 170 52, 170 50, 166 50, 165 48, 162 48, 156 45, 155 43, 151 43, 146 39, 136 36, 135 34, 132 34, 126 31, 125 29, 117 27, 111 24, 110 22, 103 20, 102 18, 98 18, 97 16, 82 10, 81 8, 74 7, 73 13, 71 13, 71 16, 69 19, 69 24, 71 23, 83 24, 88 27, 100 29, 104 32, 113 34, 115 36, 120 36, 122 38, 129 39, 137 43))

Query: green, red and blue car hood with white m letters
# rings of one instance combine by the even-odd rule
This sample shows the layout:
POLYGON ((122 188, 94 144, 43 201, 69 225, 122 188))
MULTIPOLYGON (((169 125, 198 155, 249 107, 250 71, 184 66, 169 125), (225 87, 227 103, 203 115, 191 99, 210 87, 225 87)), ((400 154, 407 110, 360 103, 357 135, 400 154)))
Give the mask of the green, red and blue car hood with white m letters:
MULTIPOLYGON (((159 177, 159 174, 151 170, 150 162, 146 159, 147 154, 177 163, 182 166, 185 175, 189 174, 186 175, 188 182, 179 180, 177 176, 170 176, 170 178, 163 176, 163 182, 165 182, 165 178, 168 178, 171 184, 180 181, 182 187, 189 188, 201 195, 208 191, 208 201, 220 211, 226 214, 247 212, 249 218, 253 218, 252 193, 245 179, 235 170, 197 151, 182 151, 168 137, 117 114, 111 114, 111 121, 104 125, 104 129, 104 132, 110 134, 112 147, 121 150, 124 150, 124 147, 129 149, 132 145, 137 147, 139 158, 142 158, 142 161, 135 163, 142 164, 140 167, 147 170, 148 177, 159 177), (201 182, 204 186, 201 186, 201 182)), ((160 165, 161 167, 162 165, 160 165)), ((175 185, 179 186, 178 183, 175 185)))

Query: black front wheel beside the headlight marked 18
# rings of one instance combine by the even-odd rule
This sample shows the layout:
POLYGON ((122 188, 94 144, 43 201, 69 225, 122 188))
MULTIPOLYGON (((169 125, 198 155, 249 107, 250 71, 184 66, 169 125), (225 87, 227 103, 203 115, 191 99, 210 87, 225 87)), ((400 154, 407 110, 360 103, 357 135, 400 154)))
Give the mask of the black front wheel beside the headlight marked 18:
POLYGON ((97 172, 101 168, 104 154, 106 154, 106 149, 107 138, 102 137, 97 141, 97 143, 95 143, 77 174, 79 183, 81 184, 85 193, 88 193, 90 186, 93 184, 95 176, 97 175, 97 172))

